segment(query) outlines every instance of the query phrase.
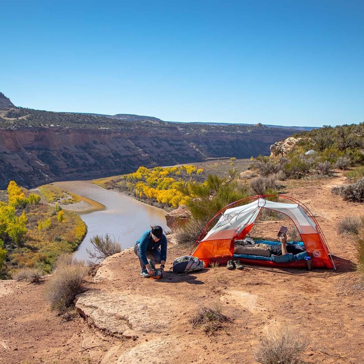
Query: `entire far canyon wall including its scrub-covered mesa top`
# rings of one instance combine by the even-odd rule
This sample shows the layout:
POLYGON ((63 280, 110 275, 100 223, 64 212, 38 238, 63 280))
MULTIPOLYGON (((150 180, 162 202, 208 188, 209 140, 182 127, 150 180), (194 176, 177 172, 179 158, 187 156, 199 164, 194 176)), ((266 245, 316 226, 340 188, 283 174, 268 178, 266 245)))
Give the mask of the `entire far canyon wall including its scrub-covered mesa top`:
MULTIPOLYGON (((296 130, 262 124, 173 123, 138 115, 50 112, 0 99, 0 189, 130 173, 139 166, 269 155, 296 130)), ((1 96, 0 95, 0 96, 1 96)))

